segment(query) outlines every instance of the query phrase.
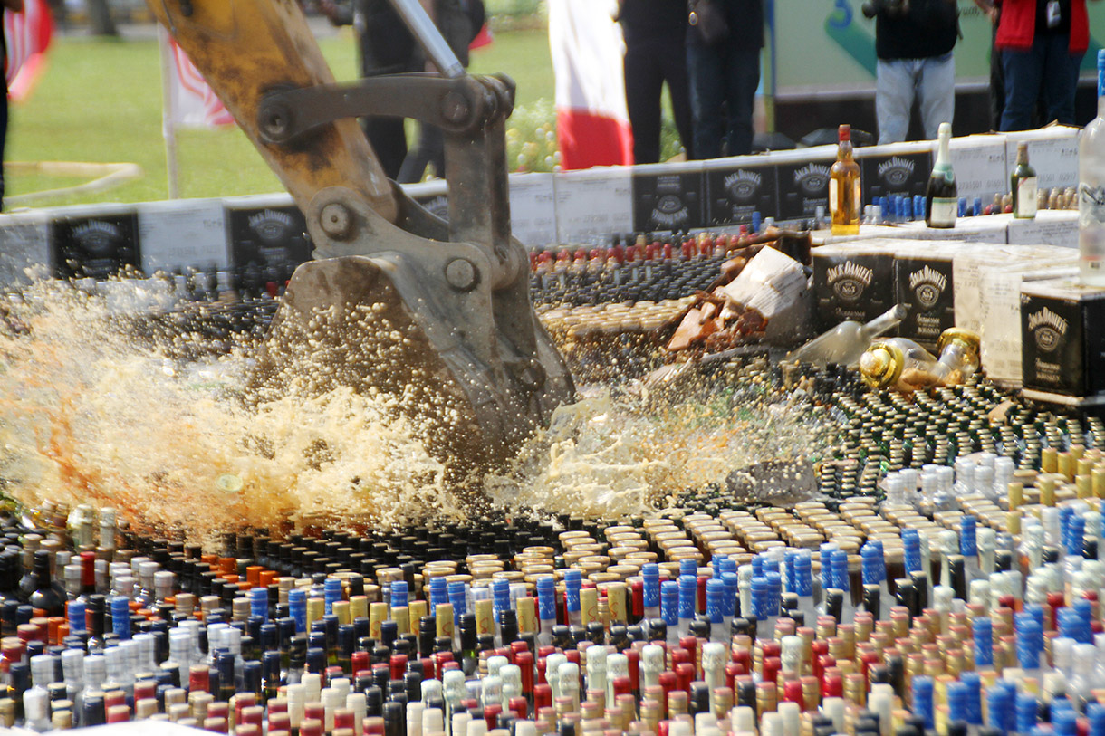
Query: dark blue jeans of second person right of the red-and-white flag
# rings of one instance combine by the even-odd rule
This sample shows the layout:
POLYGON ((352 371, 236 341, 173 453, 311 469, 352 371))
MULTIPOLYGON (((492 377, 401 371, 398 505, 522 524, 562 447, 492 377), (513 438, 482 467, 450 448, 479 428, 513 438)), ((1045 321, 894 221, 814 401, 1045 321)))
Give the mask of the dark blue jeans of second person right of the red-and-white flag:
POLYGON ((736 41, 715 46, 687 44, 695 158, 720 157, 723 143, 728 144, 729 156, 753 151, 759 57, 757 46, 736 41))

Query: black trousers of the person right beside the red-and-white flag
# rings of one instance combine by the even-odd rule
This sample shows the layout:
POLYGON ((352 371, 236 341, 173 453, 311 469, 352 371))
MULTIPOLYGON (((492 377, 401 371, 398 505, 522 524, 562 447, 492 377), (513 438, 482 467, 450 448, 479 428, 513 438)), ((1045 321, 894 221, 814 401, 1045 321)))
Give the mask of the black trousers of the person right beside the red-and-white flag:
POLYGON ((625 104, 633 127, 633 160, 636 164, 660 160, 660 96, 665 82, 680 140, 687 158, 694 158, 694 128, 684 49, 682 29, 672 29, 669 34, 625 30, 625 104), (677 39, 673 40, 672 35, 677 39))

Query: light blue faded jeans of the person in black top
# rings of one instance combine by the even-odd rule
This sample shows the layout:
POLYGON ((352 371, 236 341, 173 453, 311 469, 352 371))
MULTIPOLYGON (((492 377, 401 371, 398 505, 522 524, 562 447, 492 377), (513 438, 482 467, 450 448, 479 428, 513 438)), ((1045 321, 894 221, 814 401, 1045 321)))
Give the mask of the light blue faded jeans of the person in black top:
POLYGON ((878 60, 875 117, 880 144, 905 140, 914 99, 920 105, 925 138, 935 140, 940 123, 951 123, 956 114, 956 60, 950 52, 927 59, 878 60))

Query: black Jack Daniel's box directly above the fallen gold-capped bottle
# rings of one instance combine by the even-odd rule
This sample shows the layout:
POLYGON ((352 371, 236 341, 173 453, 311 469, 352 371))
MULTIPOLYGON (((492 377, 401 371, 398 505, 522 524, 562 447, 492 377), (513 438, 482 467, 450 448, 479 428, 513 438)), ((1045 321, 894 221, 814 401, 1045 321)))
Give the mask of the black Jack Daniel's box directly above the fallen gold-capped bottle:
POLYGON ((894 288, 906 317, 898 335, 935 350, 940 333, 956 326, 955 254, 970 246, 954 241, 906 241, 894 254, 894 288))

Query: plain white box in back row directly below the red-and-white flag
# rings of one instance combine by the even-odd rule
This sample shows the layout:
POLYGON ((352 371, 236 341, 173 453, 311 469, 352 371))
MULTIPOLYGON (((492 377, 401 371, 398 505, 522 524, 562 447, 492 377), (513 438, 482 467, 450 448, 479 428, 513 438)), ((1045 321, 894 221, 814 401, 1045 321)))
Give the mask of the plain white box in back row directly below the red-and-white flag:
POLYGON ((633 180, 628 167, 557 174, 554 188, 559 242, 633 230, 633 180))

